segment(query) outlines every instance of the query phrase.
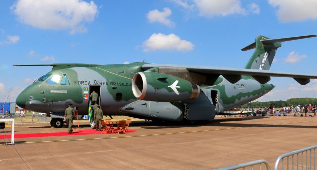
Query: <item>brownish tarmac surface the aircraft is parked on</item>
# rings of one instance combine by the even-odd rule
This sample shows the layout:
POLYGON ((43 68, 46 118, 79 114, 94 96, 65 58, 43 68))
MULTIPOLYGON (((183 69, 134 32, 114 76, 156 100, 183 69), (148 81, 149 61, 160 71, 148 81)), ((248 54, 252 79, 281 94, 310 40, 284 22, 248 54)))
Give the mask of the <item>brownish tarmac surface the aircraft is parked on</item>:
MULTIPOLYGON (((84 129, 89 125, 75 131, 84 129)), ((279 155, 317 144, 317 117, 220 118, 205 125, 134 121, 129 129, 135 132, 17 138, 6 146, 0 139, 0 169, 211 170, 257 159, 273 166, 279 155)), ((15 126, 16 134, 65 131, 15 126)))

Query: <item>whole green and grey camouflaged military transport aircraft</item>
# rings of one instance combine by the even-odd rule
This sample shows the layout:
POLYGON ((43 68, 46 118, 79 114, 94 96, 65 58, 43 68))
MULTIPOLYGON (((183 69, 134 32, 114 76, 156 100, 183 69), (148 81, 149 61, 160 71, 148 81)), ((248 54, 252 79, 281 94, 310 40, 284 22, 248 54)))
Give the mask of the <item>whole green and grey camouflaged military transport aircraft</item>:
POLYGON ((269 71, 281 42, 317 35, 269 39, 257 36, 242 51, 255 48, 244 69, 169 64, 48 64, 52 70, 25 88, 16 103, 51 116, 62 127, 65 107, 72 103, 88 114, 89 94, 99 94, 105 115, 126 115, 153 121, 207 121, 268 93, 270 76, 292 77, 306 85, 317 75, 269 71))

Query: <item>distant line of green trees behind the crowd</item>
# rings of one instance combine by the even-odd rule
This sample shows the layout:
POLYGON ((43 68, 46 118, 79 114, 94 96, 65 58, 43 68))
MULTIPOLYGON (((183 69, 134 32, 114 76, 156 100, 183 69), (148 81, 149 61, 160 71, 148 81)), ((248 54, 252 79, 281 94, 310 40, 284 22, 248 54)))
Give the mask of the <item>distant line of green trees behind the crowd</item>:
POLYGON ((287 99, 286 101, 266 101, 266 102, 250 102, 247 104, 242 105, 241 107, 250 107, 250 108, 263 108, 263 107, 269 107, 271 104, 273 104, 275 107, 286 107, 286 106, 292 106, 296 107, 297 105, 313 105, 317 104, 317 98, 291 98, 287 99))

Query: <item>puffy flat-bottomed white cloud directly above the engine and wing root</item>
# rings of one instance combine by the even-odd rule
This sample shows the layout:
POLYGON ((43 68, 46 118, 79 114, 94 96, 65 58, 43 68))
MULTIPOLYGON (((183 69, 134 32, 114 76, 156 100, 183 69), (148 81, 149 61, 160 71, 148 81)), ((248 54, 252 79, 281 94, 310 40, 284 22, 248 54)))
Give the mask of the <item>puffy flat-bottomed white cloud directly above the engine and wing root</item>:
POLYGON ((189 41, 181 40, 173 33, 169 35, 154 33, 143 42, 142 47, 144 52, 156 50, 190 51, 194 48, 194 45, 189 41))

